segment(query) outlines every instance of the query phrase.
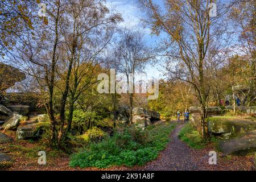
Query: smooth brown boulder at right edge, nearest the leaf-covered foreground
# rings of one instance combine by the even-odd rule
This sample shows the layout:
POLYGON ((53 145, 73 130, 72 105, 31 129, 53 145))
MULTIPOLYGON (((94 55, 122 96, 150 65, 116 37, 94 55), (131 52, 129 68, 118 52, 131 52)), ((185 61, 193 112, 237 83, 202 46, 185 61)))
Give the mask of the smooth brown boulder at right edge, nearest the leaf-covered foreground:
POLYGON ((241 138, 220 142, 219 147, 224 154, 246 155, 256 152, 256 130, 241 138))

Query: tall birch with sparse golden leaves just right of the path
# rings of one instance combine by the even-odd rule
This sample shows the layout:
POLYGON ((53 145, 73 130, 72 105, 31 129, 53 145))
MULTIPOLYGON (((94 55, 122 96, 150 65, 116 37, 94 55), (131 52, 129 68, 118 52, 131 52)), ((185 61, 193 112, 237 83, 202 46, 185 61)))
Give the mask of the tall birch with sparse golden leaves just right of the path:
MULTIPOLYGON (((195 94, 203 110, 201 115, 201 130, 204 138, 208 138, 207 106, 210 85, 205 80, 205 64, 209 47, 214 42, 224 39, 226 26, 224 14, 232 4, 222 1, 167 1, 163 10, 152 0, 139 1, 147 10, 145 20, 152 28, 152 33, 159 35, 164 32, 168 36, 165 42, 170 48, 166 53, 172 63, 176 60, 176 71, 168 71, 176 78, 193 85, 195 94), (217 5, 218 14, 211 16, 212 4, 217 5), (179 68, 179 69, 177 69, 179 68)), ((224 39, 225 40, 225 39, 224 39)), ((221 49, 223 46, 218 47, 221 49)), ((218 51, 218 50, 216 50, 218 51)), ((173 66, 173 65, 172 65, 173 66)))

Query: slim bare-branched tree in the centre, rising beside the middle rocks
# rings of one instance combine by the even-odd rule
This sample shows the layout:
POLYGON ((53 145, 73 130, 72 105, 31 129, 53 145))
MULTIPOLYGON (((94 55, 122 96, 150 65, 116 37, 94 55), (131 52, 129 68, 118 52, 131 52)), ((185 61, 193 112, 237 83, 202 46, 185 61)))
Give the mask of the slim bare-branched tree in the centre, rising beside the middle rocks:
POLYGON ((130 28, 120 30, 120 38, 115 47, 115 57, 119 60, 119 72, 126 77, 129 87, 130 124, 133 121, 133 97, 135 73, 142 73, 145 63, 150 59, 148 48, 139 31, 130 28))

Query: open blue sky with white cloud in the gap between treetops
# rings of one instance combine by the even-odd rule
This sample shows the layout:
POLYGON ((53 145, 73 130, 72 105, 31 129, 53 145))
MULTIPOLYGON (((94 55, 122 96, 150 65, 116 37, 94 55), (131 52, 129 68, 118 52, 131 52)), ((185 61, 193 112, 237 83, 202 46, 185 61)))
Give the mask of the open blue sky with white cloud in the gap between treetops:
MULTIPOLYGON (((158 0, 159 1, 159 0, 158 0)), ((157 1, 156 1, 157 2, 157 1)), ((159 2, 158 2, 159 3, 159 2)), ((144 41, 147 46, 150 44, 155 44, 160 40, 161 37, 151 36, 150 28, 143 27, 141 19, 145 17, 145 14, 138 7, 138 3, 135 0, 107 0, 106 6, 110 10, 115 10, 122 14, 123 22, 119 23, 120 27, 138 27, 144 33, 144 41)), ((156 64, 146 66, 146 73, 148 78, 162 78, 163 68, 156 64)))

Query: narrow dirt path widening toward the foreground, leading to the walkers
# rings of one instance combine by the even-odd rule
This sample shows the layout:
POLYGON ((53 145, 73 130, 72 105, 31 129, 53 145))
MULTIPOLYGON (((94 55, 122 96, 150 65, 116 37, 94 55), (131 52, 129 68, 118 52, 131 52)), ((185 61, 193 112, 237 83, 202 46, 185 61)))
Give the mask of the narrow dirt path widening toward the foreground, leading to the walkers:
POLYGON ((178 124, 171 134, 171 142, 162 152, 160 158, 147 164, 144 170, 160 170, 160 171, 182 171, 182 170, 198 170, 197 165, 192 159, 192 150, 179 138, 179 131, 184 124, 178 124))

